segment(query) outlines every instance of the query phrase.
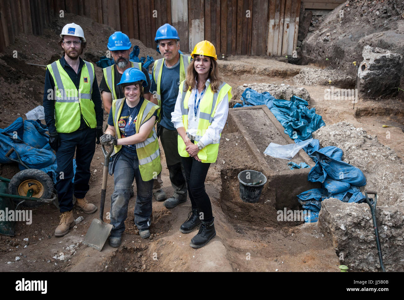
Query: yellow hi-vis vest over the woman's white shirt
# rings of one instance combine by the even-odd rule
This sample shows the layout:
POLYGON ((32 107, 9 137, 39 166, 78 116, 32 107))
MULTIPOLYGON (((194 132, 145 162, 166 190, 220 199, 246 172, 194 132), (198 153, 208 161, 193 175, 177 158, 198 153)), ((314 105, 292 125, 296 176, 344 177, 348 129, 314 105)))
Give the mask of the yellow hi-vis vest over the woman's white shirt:
MULTIPOLYGON (((185 81, 185 80, 184 80, 185 81)), ((191 95, 191 91, 183 91, 184 81, 181 82, 179 86, 179 91, 182 91, 181 97, 181 114, 182 114, 182 122, 185 127, 185 132, 188 130, 188 100, 191 95)), ((197 135, 195 135, 194 144, 198 144, 199 140, 206 133, 206 129, 212 124, 213 119, 215 118, 215 112, 217 105, 220 101, 223 100, 225 95, 228 95, 228 99, 231 99, 231 87, 223 82, 219 87, 219 91, 217 93, 213 93, 210 87, 208 87, 205 91, 203 99, 199 105, 199 123, 197 129, 197 135)), ((213 143, 207 145, 202 150, 199 150, 198 157, 202 161, 202 163, 214 163, 217 158, 217 153, 219 152, 219 142, 220 135, 213 136, 213 143)), ((180 135, 178 135, 178 153, 180 156, 189 157, 188 152, 185 150, 185 143, 180 135)))

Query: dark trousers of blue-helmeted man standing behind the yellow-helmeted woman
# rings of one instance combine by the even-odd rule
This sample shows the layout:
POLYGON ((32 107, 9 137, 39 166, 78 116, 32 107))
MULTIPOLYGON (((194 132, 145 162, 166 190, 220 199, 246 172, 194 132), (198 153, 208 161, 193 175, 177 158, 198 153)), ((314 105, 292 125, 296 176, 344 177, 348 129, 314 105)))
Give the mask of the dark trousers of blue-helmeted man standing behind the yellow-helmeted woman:
POLYGON ((181 165, 181 156, 178 153, 178 132, 177 130, 170 130, 162 127, 160 141, 166 156, 166 163, 168 172, 170 173, 171 186, 174 189, 176 199, 187 199, 187 186, 183 174, 183 167, 181 165))

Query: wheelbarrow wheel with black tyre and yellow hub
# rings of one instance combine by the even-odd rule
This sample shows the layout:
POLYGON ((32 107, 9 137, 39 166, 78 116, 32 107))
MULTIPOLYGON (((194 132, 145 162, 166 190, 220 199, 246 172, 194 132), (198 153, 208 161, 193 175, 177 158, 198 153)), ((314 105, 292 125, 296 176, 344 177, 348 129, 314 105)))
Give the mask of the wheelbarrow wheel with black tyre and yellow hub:
MULTIPOLYGON (((8 192, 13 195, 27 196, 29 190, 32 190, 32 197, 51 199, 53 196, 53 182, 49 175, 37 169, 26 169, 19 171, 11 178, 8 184, 8 192)), ((22 200, 14 199, 15 203, 22 200)), ((34 207, 42 204, 40 201, 26 200, 21 205, 34 207)))

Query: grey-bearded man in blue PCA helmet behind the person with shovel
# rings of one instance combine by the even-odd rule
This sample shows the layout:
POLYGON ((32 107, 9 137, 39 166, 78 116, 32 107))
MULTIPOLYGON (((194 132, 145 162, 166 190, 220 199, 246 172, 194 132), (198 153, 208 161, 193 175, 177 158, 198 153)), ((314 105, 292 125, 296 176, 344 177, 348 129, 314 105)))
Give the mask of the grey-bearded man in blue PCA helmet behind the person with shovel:
MULTIPOLYGON (((109 36, 107 46, 109 51, 111 51, 115 63, 103 69, 103 78, 100 83, 100 92, 103 98, 105 112, 109 114, 112 100, 124 97, 122 89, 119 87, 117 88, 117 85, 121 80, 122 74, 128 68, 137 68, 145 74, 147 85, 144 88, 143 97, 150 100, 149 72, 142 67, 140 62, 136 63, 129 61, 130 49, 132 48, 132 43, 130 42, 129 37, 120 31, 114 32, 114 34, 109 36)), ((154 180, 153 193, 156 199, 162 199, 162 201, 164 201, 166 199, 166 194, 162 190, 162 185, 161 174, 158 174, 156 180, 154 180)), ((133 195, 133 192, 131 195, 133 195)))

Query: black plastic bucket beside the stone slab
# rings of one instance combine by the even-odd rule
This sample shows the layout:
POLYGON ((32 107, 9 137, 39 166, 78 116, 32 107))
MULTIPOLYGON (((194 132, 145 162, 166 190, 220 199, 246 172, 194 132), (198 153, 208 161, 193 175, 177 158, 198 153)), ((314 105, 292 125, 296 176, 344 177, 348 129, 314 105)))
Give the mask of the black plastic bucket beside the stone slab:
POLYGON ((241 200, 247 203, 257 203, 264 184, 267 182, 267 177, 261 172, 245 170, 238 173, 237 178, 240 182, 241 200), (260 180, 262 180, 260 184, 253 184, 260 180))

